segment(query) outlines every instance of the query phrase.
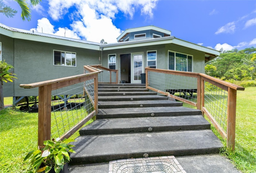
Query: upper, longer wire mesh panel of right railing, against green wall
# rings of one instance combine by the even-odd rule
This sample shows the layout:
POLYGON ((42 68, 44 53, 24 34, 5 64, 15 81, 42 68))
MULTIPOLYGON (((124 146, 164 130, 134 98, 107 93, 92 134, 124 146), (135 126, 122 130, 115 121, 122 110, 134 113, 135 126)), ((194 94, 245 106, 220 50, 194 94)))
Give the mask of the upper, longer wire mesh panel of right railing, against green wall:
POLYGON ((148 86, 197 103, 197 78, 148 71, 148 86))

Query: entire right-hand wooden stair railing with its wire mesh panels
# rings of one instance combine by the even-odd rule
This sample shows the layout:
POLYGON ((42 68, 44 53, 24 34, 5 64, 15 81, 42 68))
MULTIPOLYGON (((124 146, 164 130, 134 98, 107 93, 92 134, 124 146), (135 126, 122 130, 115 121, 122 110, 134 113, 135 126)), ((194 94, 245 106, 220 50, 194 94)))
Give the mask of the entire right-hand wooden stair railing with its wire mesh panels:
POLYGON ((145 73, 147 89, 200 109, 227 139, 227 147, 235 149, 236 91, 245 88, 201 73, 147 67, 145 73))

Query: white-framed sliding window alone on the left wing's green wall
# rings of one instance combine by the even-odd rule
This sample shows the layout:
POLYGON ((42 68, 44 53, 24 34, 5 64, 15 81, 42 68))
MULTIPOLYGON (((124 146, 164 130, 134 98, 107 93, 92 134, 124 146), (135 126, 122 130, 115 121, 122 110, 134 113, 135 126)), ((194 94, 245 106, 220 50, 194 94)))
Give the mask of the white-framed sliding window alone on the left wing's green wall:
POLYGON ((53 50, 53 65, 76 67, 76 53, 53 50))

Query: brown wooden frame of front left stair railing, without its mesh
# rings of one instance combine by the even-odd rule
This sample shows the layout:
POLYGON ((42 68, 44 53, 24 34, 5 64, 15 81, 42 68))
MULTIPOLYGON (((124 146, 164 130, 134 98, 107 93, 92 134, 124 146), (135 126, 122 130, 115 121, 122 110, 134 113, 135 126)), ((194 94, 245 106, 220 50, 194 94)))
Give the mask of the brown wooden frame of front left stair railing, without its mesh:
POLYGON ((84 69, 88 71, 86 74, 80 74, 76 76, 70 76, 66 78, 59 78, 54 80, 48 80, 44 82, 37 82, 31 84, 20 84, 22 88, 35 88, 38 90, 38 146, 43 146, 43 141, 51 139, 51 109, 52 109, 52 90, 60 89, 66 86, 71 86, 88 80, 94 80, 94 110, 89 113, 85 118, 80 120, 74 125, 68 132, 65 132, 60 138, 68 138, 74 134, 79 128, 81 128, 88 120, 98 113, 98 74, 102 70, 95 69, 90 66, 84 66, 84 69))

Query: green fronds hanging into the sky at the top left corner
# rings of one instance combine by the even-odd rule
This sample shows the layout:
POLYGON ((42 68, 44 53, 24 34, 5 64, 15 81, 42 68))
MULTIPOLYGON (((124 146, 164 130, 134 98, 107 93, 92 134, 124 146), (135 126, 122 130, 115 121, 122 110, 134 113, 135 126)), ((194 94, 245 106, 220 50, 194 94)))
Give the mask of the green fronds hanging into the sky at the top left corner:
MULTIPOLYGON (((29 4, 27 3, 28 1, 27 0, 14 0, 14 1, 16 1, 20 5, 22 20, 25 21, 27 19, 28 21, 30 21, 31 10, 29 8, 29 4)), ((42 0, 30 0, 30 5, 36 6, 39 4, 39 2, 42 2, 42 0)), ((17 13, 17 11, 5 5, 1 0, 0 13, 3 13, 7 17, 13 17, 17 13)))

